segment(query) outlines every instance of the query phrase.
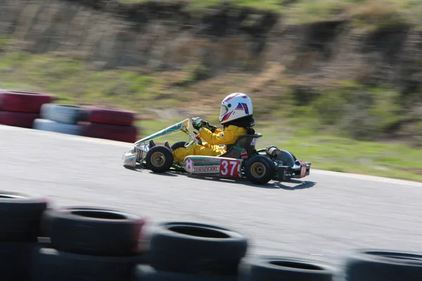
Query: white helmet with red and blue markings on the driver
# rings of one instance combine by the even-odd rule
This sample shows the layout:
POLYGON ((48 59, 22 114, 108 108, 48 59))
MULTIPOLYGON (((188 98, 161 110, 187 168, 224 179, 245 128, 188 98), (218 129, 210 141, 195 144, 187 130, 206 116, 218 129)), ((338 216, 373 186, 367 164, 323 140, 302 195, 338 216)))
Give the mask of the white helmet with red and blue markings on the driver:
POLYGON ((222 101, 219 122, 224 124, 236 119, 252 116, 252 100, 244 93, 231 93, 222 101))

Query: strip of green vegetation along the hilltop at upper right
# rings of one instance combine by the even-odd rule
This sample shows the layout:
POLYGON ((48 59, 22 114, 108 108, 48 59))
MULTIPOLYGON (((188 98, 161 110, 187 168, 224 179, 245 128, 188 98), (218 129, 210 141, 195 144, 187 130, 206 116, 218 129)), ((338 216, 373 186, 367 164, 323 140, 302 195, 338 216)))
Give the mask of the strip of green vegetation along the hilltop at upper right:
MULTIPOLYGON (((124 4, 155 0, 120 0, 124 4)), ((158 0, 157 0, 158 1, 158 0)), ((158 1, 160 2, 160 1, 158 1)), ((207 11, 225 0, 188 0, 187 11, 207 11)), ((278 13, 289 24, 304 24, 321 20, 352 20, 364 30, 402 24, 420 24, 422 2, 418 0, 231 0, 232 6, 256 8, 278 13)))

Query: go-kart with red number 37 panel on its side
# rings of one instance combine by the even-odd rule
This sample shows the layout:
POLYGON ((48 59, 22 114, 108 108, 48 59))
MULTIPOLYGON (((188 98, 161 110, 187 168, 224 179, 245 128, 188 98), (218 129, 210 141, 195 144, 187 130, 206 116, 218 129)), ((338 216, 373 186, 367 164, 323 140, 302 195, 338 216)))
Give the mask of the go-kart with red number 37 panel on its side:
POLYGON ((123 153, 123 166, 133 169, 136 164, 141 164, 155 173, 173 170, 202 176, 248 178, 252 183, 260 185, 271 180, 289 181, 291 178, 309 176, 311 163, 296 159, 295 155, 286 150, 279 150, 275 146, 256 150, 255 145, 258 138, 262 137, 261 133, 239 136, 234 145, 227 145, 222 155, 190 155, 185 157, 183 163, 175 162, 172 151, 164 145, 150 148, 149 141, 180 131, 186 133, 190 141, 174 143, 172 150, 200 144, 200 135, 196 131, 191 133, 190 125, 191 120, 185 119, 136 141, 129 151, 123 153))

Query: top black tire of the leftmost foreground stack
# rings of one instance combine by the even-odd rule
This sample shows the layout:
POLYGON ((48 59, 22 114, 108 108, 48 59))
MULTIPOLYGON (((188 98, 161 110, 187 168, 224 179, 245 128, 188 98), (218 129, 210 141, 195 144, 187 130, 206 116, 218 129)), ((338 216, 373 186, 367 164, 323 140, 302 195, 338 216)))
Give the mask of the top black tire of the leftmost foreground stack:
POLYGON ((37 242, 49 200, 43 196, 0 191, 0 241, 37 242))

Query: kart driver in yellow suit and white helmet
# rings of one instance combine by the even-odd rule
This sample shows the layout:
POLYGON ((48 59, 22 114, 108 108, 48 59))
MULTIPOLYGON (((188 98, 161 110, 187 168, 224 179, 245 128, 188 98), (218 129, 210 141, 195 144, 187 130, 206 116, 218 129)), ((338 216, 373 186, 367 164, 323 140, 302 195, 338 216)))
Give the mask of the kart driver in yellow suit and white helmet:
MULTIPOLYGON (((244 93, 231 93, 222 101, 219 122, 223 130, 217 129, 200 117, 192 118, 192 126, 203 138, 201 144, 193 144, 188 148, 177 148, 173 153, 175 162, 183 162, 188 155, 218 156, 226 152, 227 145, 233 145, 241 135, 253 134, 255 125, 252 117, 252 100, 244 93), (224 146, 220 146, 224 145, 224 146)), ((170 148, 166 141, 165 146, 170 148)))

